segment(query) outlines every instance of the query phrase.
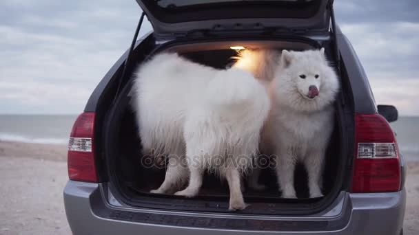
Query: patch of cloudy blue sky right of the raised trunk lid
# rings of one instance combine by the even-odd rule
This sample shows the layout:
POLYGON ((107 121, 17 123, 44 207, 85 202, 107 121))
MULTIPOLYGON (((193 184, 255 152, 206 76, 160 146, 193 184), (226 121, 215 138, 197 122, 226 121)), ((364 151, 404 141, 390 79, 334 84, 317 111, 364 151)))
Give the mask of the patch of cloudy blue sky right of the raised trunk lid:
POLYGON ((378 104, 419 115, 418 1, 335 1, 337 22, 365 68, 378 104))

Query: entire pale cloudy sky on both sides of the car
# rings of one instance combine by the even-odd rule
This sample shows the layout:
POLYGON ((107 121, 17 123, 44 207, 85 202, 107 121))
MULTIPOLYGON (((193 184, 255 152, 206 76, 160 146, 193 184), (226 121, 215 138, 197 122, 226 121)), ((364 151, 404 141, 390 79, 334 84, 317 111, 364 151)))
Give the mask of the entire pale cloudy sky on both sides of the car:
MULTIPOLYGON (((377 103, 419 115, 419 2, 336 0, 335 9, 377 103)), ((1 0, 0 113, 81 113, 140 14, 134 0, 1 0)))

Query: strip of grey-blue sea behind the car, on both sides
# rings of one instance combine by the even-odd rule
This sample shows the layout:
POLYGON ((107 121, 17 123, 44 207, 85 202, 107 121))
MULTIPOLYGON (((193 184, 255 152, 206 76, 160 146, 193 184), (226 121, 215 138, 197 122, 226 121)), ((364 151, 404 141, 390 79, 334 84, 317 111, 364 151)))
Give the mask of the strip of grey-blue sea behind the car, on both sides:
MULTIPOLYGON (((0 115, 0 141, 67 144, 76 115, 0 115)), ((419 161, 419 117, 391 123, 407 161, 419 161)))

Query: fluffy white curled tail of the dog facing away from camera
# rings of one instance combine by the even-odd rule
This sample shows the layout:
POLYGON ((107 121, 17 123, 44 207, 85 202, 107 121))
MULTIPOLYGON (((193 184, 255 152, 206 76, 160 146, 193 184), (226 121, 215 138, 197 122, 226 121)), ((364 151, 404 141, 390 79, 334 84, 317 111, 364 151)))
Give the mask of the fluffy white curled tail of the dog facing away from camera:
POLYGON ((226 115, 260 113, 269 109, 265 87, 247 71, 228 69, 218 71, 205 93, 207 104, 226 115))

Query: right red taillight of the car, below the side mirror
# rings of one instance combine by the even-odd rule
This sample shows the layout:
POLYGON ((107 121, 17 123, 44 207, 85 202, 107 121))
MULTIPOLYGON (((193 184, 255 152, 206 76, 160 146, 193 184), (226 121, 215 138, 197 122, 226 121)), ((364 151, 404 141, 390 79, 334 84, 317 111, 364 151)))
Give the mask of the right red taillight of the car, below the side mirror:
POLYGON ((378 114, 356 114, 352 192, 396 192, 401 168, 396 137, 378 114))

